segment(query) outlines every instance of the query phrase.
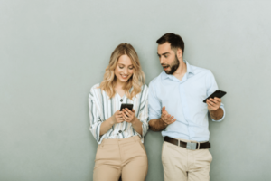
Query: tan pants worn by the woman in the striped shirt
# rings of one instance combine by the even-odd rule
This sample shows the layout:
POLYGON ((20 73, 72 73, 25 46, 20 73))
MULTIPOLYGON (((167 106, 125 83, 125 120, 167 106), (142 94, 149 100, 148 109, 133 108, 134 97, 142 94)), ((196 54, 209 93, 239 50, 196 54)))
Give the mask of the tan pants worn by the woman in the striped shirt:
POLYGON ((104 139, 97 148, 94 181, 144 181, 148 170, 145 147, 138 136, 104 139))

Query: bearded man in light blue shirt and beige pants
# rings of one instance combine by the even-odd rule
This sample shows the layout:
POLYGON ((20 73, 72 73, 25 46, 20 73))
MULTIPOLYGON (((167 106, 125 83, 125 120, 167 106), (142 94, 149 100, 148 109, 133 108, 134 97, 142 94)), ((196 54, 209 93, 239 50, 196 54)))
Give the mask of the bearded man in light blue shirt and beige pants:
POLYGON ((149 85, 149 126, 163 130, 164 180, 210 180, 208 111, 219 122, 225 110, 219 98, 203 100, 218 90, 217 83, 211 71, 182 59, 181 36, 166 33, 156 43, 164 71, 149 85))

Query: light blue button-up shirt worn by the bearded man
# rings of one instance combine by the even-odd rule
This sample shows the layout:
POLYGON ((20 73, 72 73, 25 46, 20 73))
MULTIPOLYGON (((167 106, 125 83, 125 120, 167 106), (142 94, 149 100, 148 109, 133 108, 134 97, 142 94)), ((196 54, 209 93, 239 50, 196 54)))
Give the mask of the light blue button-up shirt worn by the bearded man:
MULTIPOLYGON (((209 141, 208 109, 203 100, 218 90, 218 85, 211 71, 184 62, 187 72, 182 81, 163 71, 150 82, 149 120, 160 119, 165 106, 165 110, 177 120, 162 131, 163 137, 209 141)), ((220 108, 224 111, 223 117, 213 121, 225 118, 222 103, 220 108)))

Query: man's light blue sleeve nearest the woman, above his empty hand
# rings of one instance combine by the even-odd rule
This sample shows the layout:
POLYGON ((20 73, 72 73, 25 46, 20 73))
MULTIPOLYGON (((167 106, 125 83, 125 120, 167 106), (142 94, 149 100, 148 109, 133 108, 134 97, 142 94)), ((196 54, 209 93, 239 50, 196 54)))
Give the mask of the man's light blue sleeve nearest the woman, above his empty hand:
POLYGON ((149 85, 149 95, 148 95, 148 108, 149 108, 149 119, 160 119, 161 118, 161 103, 156 97, 154 81, 149 85))

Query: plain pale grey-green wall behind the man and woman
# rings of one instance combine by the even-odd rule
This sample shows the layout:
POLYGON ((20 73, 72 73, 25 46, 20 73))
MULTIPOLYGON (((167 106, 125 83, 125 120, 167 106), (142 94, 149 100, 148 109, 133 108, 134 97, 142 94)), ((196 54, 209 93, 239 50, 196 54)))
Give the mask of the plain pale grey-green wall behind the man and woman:
MULTIPOLYGON (((0 0, 0 180, 92 180, 98 144, 89 89, 131 43, 148 84, 155 41, 178 33, 184 58, 210 69, 227 110, 210 122, 211 181, 270 180, 270 1, 0 0)), ((147 181, 162 181, 159 132, 145 137, 147 181)))

